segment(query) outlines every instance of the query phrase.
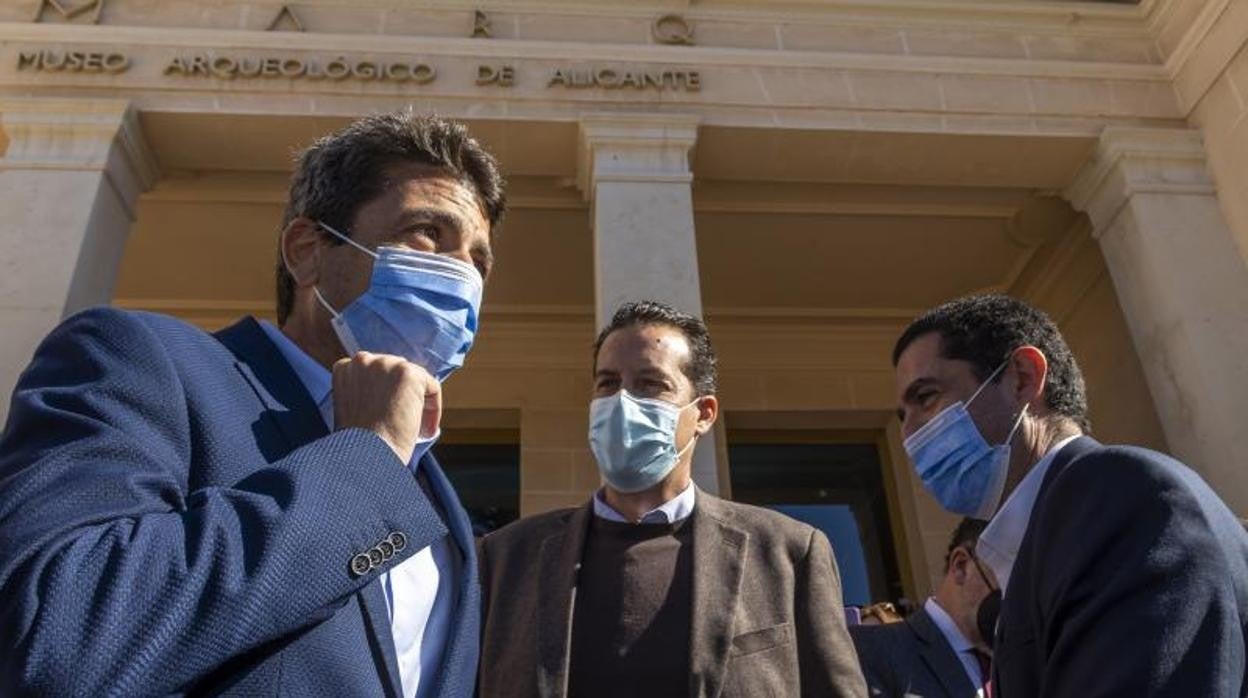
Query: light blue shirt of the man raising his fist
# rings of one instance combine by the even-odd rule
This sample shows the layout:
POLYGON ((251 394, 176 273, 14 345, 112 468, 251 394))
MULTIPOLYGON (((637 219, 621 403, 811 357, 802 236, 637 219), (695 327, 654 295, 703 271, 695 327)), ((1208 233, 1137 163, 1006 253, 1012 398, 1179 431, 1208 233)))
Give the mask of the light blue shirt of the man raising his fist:
MULTIPOLYGON (((295 370, 332 431, 333 378, 329 371, 277 327, 268 322, 261 322, 260 326, 295 370)), ((436 440, 437 436, 417 446, 408 465, 413 476, 417 474, 421 456, 436 440)), ((404 698, 424 698, 434 691, 437 669, 442 666, 442 656, 451 637, 451 619, 456 607, 454 582, 459 576, 461 562, 452 553, 453 544, 449 534, 444 536, 381 574, 404 698)))

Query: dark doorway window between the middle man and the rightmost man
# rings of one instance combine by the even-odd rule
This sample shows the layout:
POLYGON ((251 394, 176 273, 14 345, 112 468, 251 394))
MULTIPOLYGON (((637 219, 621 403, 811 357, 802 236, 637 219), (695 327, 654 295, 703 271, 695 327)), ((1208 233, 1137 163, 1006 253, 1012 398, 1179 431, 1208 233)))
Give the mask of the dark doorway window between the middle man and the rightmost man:
POLYGON ((728 432, 733 498, 822 531, 851 606, 904 596, 876 440, 869 432, 728 432))

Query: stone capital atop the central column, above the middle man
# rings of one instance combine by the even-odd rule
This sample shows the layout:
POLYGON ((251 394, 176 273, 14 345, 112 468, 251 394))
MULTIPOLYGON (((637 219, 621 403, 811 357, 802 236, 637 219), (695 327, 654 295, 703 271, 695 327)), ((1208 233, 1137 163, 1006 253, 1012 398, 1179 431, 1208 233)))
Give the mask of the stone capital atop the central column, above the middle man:
POLYGON ((577 186, 592 200, 594 185, 603 181, 693 181, 689 151, 698 122, 689 114, 582 115, 577 186))

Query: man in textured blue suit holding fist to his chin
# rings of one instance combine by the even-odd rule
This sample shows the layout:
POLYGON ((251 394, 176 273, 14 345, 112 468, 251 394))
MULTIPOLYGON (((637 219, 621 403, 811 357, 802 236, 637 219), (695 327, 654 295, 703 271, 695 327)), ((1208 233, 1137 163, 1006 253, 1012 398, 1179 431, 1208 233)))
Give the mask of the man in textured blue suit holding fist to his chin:
POLYGON ((371 116, 298 161, 280 328, 52 331, 0 437, 0 694, 469 696, 472 532, 428 450, 503 209, 462 125, 371 116))

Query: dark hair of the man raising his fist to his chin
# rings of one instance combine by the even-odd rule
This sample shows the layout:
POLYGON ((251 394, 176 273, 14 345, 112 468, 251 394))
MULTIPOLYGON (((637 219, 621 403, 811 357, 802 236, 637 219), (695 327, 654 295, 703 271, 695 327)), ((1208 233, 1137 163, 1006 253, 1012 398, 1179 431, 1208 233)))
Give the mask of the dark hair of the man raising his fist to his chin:
MULTIPOLYGON (((412 109, 374 114, 318 139, 300 154, 282 230, 297 217, 323 221, 343 235, 361 206, 389 186, 389 169, 428 165, 470 187, 490 231, 507 209, 498 161, 468 134, 463 124, 421 115, 412 109)), ((332 238, 334 245, 341 240, 332 238)), ((281 245, 281 240, 278 240, 281 245)), ((286 322, 295 303, 295 280, 277 256, 277 322, 286 322)))

